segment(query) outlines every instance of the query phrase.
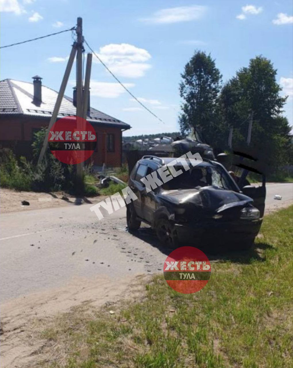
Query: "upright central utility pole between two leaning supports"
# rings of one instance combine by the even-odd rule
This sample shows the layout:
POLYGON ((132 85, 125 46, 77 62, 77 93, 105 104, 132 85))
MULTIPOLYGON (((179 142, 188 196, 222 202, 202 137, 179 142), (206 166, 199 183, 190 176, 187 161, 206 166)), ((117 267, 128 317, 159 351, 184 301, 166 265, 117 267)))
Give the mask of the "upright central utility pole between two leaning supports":
MULTIPOLYGON (((83 96, 82 96, 82 52, 84 38, 82 36, 82 18, 77 18, 77 58, 76 58, 76 118, 81 120, 83 118, 83 96)), ((75 182, 75 204, 82 203, 82 196, 84 194, 84 180, 83 180, 83 163, 76 165, 76 182, 75 182)))

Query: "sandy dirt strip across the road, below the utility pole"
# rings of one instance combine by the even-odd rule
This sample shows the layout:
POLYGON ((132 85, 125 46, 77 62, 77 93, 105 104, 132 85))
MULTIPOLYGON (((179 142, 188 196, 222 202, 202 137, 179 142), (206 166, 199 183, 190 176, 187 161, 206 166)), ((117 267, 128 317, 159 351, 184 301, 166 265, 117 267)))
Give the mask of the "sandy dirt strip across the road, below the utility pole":
MULTIPOLYGON (((106 196, 84 198, 86 203, 98 203, 106 196)), ((64 192, 21 192, 6 188, 0 188, 0 212, 27 211, 50 207, 67 206, 75 202, 75 197, 64 192), (67 200, 62 199, 66 197, 67 200), (22 201, 29 202, 29 206, 22 205, 22 201)))

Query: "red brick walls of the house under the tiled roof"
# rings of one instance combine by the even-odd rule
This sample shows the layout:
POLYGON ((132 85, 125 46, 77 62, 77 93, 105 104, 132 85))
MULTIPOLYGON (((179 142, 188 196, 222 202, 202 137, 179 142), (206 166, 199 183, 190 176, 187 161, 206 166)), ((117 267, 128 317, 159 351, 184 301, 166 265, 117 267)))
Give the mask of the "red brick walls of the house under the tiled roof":
MULTIPOLYGON (((3 147, 15 149, 18 155, 31 157, 30 141, 32 129, 47 127, 49 120, 21 117, 0 117, 0 144, 3 147), (27 144, 24 144, 24 143, 27 144), (16 148, 18 146, 18 149, 16 148), (22 149, 25 147, 25 149, 22 149)), ((102 166, 105 163, 109 167, 121 166, 121 129, 120 128, 95 128, 97 134, 97 149, 90 158, 94 165, 102 166), (114 134, 114 152, 106 152, 106 134, 114 134)))

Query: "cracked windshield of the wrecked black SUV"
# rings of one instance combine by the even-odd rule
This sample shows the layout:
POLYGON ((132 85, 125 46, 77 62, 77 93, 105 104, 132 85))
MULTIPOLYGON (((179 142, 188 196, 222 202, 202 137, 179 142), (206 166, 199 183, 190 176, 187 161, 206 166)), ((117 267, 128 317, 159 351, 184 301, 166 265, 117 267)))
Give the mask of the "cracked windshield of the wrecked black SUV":
POLYGON ((235 190, 224 170, 212 166, 194 167, 185 171, 181 165, 176 165, 176 171, 182 170, 182 174, 162 185, 165 190, 176 189, 200 189, 213 186, 221 189, 235 190))

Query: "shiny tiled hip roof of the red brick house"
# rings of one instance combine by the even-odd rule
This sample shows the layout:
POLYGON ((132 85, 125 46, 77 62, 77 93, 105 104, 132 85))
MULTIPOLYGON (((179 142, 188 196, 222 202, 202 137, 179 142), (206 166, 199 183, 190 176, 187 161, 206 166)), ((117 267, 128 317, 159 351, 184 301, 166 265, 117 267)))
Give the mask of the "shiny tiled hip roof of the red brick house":
MULTIPOLYGON (((50 118, 57 95, 58 92, 42 85, 42 102, 37 106, 33 103, 32 83, 4 79, 0 81, 0 114, 50 118)), ((58 117, 75 115, 76 107, 73 105, 73 99, 64 96, 58 117)), ((88 113, 87 120, 93 125, 130 129, 130 125, 92 107, 88 113)))

